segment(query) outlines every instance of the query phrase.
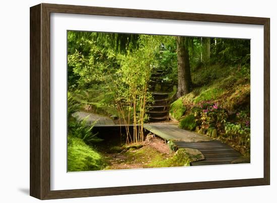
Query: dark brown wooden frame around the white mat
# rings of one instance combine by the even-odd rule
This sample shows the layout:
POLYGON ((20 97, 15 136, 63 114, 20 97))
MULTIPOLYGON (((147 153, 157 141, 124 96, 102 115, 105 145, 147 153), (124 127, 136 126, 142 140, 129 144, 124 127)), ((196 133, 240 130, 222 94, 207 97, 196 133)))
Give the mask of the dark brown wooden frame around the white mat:
POLYGON ((30 8, 30 195, 39 199, 269 185, 269 18, 39 4, 30 8), (50 190, 50 13, 171 19, 264 26, 263 178, 50 190))

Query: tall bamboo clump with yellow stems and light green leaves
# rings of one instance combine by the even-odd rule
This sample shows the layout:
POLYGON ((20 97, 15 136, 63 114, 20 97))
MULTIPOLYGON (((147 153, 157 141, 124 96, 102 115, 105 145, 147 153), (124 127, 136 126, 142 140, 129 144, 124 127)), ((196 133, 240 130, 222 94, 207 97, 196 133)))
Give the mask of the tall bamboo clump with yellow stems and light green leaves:
POLYGON ((154 56, 159 49, 160 41, 151 35, 140 35, 140 48, 120 56, 120 70, 113 87, 116 105, 127 127, 127 142, 143 141, 143 123, 145 120, 146 104, 151 101, 149 81, 155 62, 154 56), (125 118, 127 112, 127 118, 125 118), (132 119, 133 137, 130 137, 128 125, 132 119))

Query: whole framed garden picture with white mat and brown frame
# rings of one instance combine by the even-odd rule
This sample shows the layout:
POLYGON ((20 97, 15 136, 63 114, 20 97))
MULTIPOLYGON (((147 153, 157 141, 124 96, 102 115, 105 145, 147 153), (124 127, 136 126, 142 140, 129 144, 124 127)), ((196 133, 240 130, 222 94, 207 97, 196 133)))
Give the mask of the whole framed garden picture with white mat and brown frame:
POLYGON ((270 184, 269 18, 30 8, 30 195, 270 184))

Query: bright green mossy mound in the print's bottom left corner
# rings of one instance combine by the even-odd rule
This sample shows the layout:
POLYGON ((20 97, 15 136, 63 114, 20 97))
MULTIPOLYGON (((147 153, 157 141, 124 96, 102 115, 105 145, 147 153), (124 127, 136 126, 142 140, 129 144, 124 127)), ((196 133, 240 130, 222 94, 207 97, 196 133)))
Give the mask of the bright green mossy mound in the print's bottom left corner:
POLYGON ((68 137, 67 141, 67 170, 95 171, 101 170, 105 162, 99 153, 79 138, 68 137))

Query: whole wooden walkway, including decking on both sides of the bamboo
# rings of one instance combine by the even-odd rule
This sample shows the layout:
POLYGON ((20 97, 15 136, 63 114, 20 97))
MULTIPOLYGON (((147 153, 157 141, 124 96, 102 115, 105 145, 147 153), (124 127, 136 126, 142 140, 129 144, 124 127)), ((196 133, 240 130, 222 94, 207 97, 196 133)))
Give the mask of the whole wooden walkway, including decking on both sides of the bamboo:
MULTIPOLYGON (((82 118, 88 116, 88 124, 94 123, 96 128, 114 128, 120 126, 114 123, 109 117, 85 112, 78 112, 77 115, 82 118)), ((178 148, 199 150, 204 155, 205 160, 192 162, 192 166, 231 164, 232 161, 242 157, 239 152, 219 140, 214 140, 189 130, 180 129, 177 125, 170 124, 170 122, 147 123, 144 125, 144 128, 166 141, 173 141, 178 148)), ((249 161, 243 161, 238 162, 249 163, 249 161)))

